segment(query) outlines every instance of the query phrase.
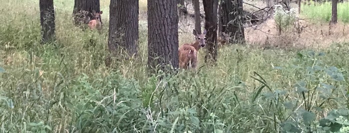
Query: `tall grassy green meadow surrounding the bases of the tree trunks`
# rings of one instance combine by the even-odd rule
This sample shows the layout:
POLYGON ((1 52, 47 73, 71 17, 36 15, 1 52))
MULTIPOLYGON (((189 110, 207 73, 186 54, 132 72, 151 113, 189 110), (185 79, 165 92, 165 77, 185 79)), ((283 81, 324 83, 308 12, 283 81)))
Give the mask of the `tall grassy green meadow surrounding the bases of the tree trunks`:
MULTIPOLYGON (((0 4, 1 133, 348 133, 345 39, 326 48, 234 44, 219 49, 217 66, 200 51, 197 72, 148 75, 144 18, 139 57, 104 66, 109 1, 100 2, 102 34, 72 24, 72 0, 54 0, 57 40, 44 45, 38 0, 0 4)), ((304 5, 302 15, 331 11, 321 7, 304 5)), ((179 33, 179 42, 190 36, 179 33)))

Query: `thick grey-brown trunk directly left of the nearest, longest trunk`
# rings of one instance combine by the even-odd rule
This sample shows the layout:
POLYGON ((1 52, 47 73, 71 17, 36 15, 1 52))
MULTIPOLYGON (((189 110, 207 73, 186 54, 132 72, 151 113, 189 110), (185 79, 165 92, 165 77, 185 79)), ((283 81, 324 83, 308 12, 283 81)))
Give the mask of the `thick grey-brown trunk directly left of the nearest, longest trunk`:
POLYGON ((110 0, 108 48, 113 56, 137 54, 138 0, 110 0))

